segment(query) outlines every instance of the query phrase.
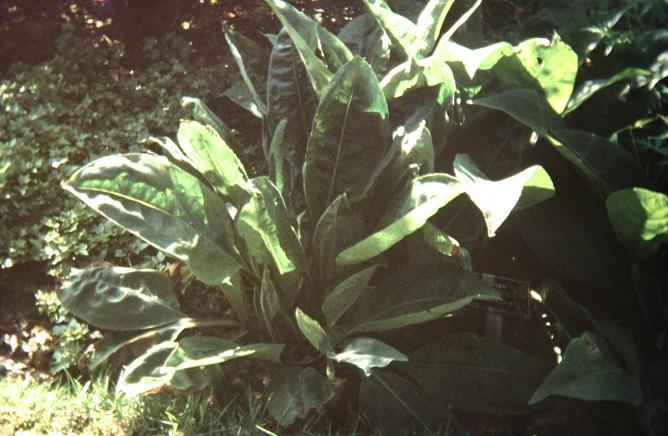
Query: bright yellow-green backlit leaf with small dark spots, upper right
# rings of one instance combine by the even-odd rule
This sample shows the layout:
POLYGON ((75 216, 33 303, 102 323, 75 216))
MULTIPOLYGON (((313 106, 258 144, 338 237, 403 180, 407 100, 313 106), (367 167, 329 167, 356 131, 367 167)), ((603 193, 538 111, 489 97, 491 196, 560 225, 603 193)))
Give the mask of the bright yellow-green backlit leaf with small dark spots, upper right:
POLYGON ((494 68, 508 86, 532 88, 545 95, 555 112, 566 108, 573 93, 578 56, 558 35, 552 41, 528 39, 494 68))

